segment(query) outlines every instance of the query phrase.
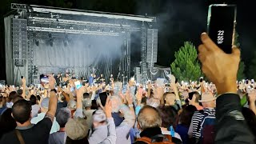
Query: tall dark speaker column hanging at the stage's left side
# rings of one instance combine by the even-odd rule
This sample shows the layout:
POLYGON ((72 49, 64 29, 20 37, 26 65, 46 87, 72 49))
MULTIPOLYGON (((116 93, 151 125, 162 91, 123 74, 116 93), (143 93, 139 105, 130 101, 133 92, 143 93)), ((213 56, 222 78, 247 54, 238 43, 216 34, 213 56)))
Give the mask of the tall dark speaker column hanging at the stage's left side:
POLYGON ((27 55, 27 20, 13 18, 12 20, 13 34, 13 59, 16 66, 24 66, 24 60, 27 55))

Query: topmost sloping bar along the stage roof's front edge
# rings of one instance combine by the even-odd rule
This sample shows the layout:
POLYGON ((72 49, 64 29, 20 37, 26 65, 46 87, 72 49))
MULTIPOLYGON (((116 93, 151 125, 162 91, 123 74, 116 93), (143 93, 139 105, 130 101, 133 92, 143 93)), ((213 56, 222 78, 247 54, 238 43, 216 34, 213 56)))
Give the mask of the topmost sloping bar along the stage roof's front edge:
POLYGON ((33 7, 32 9, 34 12, 38 13, 56 13, 56 14, 72 14, 72 15, 85 15, 85 16, 92 16, 92 17, 105 17, 105 18, 114 18, 114 19, 128 19, 134 21, 141 21, 141 22, 155 22, 154 17, 142 17, 136 15, 122 15, 122 14, 104 14, 104 13, 93 13, 93 12, 82 12, 82 11, 72 11, 72 10, 56 10, 50 8, 42 8, 42 7, 33 7))

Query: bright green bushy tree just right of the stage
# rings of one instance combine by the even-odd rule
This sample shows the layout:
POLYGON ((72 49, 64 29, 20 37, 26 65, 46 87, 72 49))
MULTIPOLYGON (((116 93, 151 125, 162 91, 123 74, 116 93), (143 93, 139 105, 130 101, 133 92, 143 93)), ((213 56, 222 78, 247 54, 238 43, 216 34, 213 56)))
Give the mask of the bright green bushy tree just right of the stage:
POLYGON ((184 42, 184 46, 175 52, 175 60, 170 65, 171 71, 178 80, 196 81, 202 76, 198 62, 198 53, 192 42, 184 42))

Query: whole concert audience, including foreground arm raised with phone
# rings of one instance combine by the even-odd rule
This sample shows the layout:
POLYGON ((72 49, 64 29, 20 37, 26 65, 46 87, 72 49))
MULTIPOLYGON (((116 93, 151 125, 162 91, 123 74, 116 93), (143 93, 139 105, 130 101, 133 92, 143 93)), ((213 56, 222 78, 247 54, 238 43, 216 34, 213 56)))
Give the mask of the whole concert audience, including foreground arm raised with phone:
POLYGON ((56 78, 38 86, 2 86, 0 143, 255 143, 256 84, 237 82, 240 51, 225 54, 202 34, 198 58, 210 82, 130 79, 98 85, 56 78), (122 87, 126 87, 123 89, 122 87))

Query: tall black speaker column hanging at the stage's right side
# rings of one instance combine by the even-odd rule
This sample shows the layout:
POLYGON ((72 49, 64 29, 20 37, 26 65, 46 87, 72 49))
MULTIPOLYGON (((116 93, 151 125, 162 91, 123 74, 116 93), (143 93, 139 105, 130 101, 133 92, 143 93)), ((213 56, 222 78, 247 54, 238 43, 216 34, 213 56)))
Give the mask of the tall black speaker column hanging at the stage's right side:
POLYGON ((155 63, 158 61, 158 30, 147 30, 146 62, 155 63))

